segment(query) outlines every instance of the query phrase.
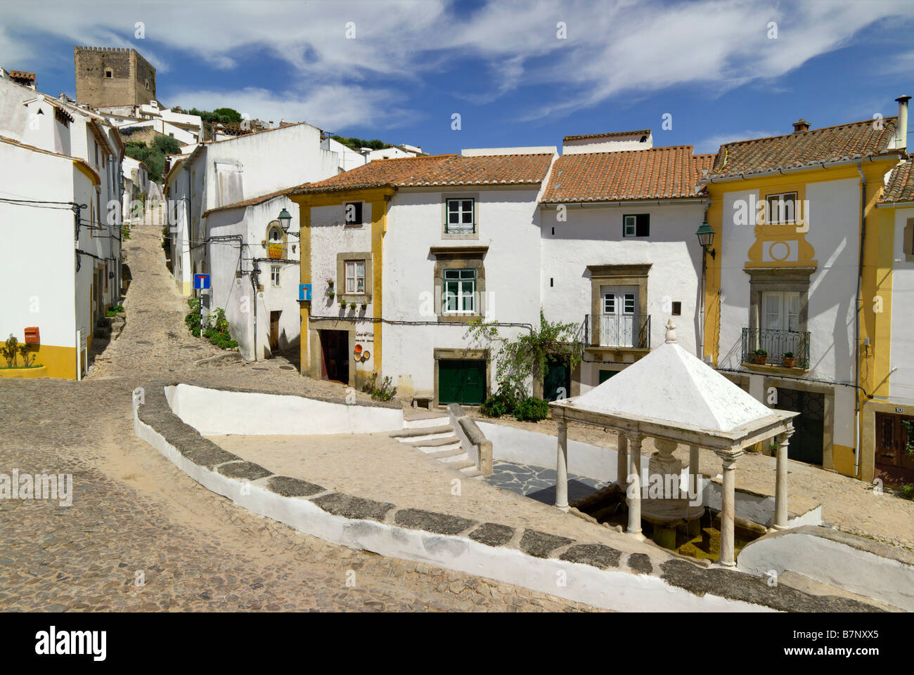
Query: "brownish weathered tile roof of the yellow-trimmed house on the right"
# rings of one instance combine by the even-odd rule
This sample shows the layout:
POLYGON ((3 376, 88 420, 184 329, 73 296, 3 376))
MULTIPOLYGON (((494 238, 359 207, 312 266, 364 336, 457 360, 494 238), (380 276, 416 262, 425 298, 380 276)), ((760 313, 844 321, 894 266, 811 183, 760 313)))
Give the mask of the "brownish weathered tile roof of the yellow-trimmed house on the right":
POLYGON ((887 117, 881 122, 881 129, 874 128, 874 120, 864 120, 754 141, 727 143, 720 146, 717 161, 708 177, 760 174, 883 153, 895 135, 898 118, 887 117))

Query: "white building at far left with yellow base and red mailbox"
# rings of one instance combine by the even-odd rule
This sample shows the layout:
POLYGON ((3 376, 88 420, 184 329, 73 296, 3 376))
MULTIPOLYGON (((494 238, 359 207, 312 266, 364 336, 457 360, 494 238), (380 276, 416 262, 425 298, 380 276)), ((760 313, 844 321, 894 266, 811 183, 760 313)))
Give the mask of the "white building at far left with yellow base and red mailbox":
POLYGON ((120 301, 122 156, 99 115, 0 78, 0 222, 10 225, 0 334, 23 343, 37 329, 30 351, 43 368, 24 376, 78 379, 99 319, 120 301))

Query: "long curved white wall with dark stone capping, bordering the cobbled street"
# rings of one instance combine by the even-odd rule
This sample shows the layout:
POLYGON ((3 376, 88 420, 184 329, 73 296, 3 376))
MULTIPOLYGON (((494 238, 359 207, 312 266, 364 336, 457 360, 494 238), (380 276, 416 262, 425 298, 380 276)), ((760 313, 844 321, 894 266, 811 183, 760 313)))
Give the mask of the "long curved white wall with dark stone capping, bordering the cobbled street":
POLYGON ((654 565, 646 554, 624 554, 603 543, 401 509, 275 475, 219 448, 175 415, 165 387, 176 385, 134 392, 136 435, 208 490, 331 543, 622 611, 877 611, 849 598, 771 587, 735 570, 705 569, 679 559, 654 565))

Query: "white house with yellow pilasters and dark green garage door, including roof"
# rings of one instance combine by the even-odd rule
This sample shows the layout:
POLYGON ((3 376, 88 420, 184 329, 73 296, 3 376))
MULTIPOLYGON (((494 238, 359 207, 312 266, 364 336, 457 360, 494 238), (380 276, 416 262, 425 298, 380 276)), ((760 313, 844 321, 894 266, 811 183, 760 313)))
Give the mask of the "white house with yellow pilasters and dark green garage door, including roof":
POLYGON ((380 160, 290 191, 311 253, 303 372, 350 385, 377 372, 407 399, 481 403, 494 368, 469 322, 509 337, 538 325, 546 150, 380 160))

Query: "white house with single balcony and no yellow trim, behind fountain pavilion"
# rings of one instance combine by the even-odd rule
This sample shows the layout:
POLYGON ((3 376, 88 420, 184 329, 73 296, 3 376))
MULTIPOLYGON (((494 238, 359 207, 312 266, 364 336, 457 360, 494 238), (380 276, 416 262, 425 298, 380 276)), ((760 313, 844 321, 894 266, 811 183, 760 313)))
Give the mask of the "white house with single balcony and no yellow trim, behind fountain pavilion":
POLYGON ((549 400, 559 387, 564 396, 585 393, 642 358, 663 343, 670 316, 684 317, 675 320, 679 344, 696 353, 702 251, 695 232, 708 205, 696 185, 714 155, 693 154, 690 145, 610 143, 588 153, 566 146, 541 200, 543 310, 549 321, 578 324, 585 344, 575 372, 549 364, 549 400))

